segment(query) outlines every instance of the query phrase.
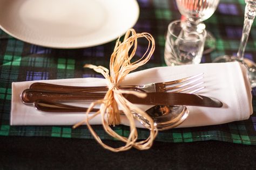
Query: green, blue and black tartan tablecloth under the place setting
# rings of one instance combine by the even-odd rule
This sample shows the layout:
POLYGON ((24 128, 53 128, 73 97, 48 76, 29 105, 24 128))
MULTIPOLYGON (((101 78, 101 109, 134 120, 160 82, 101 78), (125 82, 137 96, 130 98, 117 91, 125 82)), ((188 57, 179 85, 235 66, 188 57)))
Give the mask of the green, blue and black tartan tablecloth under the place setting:
MULTIPOLYGON (((180 19, 175 1, 138 0, 140 16, 134 29, 149 32, 156 40, 156 51, 146 69, 166 66, 164 44, 167 25, 180 19)), ((223 54, 236 54, 244 22, 244 0, 221 0, 214 15, 205 20, 206 28, 217 39, 217 48, 203 56, 202 62, 212 62, 223 54)), ((256 61, 256 30, 252 27, 245 57, 256 61)), ((31 80, 68 79, 75 77, 102 77, 91 69, 83 68, 85 63, 109 68, 109 59, 115 41, 104 45, 81 49, 53 49, 31 45, 8 36, 0 30, 0 135, 1 136, 49 136, 63 138, 93 138, 86 126, 72 129, 71 126, 10 126, 11 83, 31 80)), ((138 46, 137 54, 143 53, 146 45, 138 46)), ((232 84, 231 84, 232 86, 232 84)), ((256 144, 256 91, 253 89, 253 115, 246 121, 204 126, 198 128, 171 129, 159 132, 156 140, 169 142, 191 142, 199 140, 221 140, 232 143, 256 144)), ((214 113, 213 113, 214 114, 214 113)), ((108 136, 101 125, 94 126, 99 137, 108 136)), ((129 127, 116 126, 117 133, 128 136, 129 127)), ((139 129, 139 138, 149 131, 139 129)))

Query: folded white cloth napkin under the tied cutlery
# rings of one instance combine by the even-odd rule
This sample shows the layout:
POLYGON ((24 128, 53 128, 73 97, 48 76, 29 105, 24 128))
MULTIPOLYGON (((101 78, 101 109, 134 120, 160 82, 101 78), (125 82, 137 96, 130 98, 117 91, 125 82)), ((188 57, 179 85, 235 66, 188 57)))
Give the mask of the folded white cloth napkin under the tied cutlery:
MULTIPOLYGON (((252 114, 252 95, 246 68, 238 62, 204 63, 175 67, 157 67, 127 75, 123 84, 145 84, 164 82, 204 73, 205 89, 198 94, 217 98, 224 103, 223 108, 188 107, 190 114, 178 127, 192 127, 223 124, 248 119, 252 114)), ((33 105, 22 103, 20 95, 34 82, 65 84, 69 86, 105 86, 105 79, 84 78, 27 81, 12 83, 11 125, 73 125, 85 118, 84 113, 59 114, 36 110, 33 105)), ((144 110, 152 106, 139 105, 144 110)), ((121 123, 128 125, 125 116, 121 123)), ((101 124, 96 117, 90 124, 101 124)), ((138 128, 143 126, 137 122, 138 128)))

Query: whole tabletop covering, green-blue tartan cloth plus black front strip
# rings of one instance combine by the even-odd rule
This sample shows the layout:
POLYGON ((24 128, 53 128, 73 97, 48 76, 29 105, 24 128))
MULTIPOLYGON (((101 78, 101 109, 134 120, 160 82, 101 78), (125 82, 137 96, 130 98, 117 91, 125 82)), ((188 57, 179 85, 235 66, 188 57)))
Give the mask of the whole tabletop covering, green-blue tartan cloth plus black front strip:
MULTIPOLYGON (((174 0, 138 0, 139 18, 133 29, 150 33, 155 51, 137 70, 166 66, 164 61, 167 26, 181 18, 174 0)), ((215 49, 203 54, 201 63, 220 55, 236 55, 244 22, 244 0, 220 0, 214 14, 204 20, 215 37, 215 49)), ((8 16, 6 16, 8 18, 8 16)), ((0 23, 1 24, 1 23, 0 23)), ((256 26, 252 26, 245 58, 256 61, 256 26)), ((74 30, 75 31, 75 30, 74 30)), ((0 169, 255 169, 256 89, 252 88, 253 114, 244 121, 159 131, 153 146, 140 151, 105 150, 86 125, 10 125, 12 82, 104 78, 86 63, 109 68, 116 39, 104 44, 55 48, 30 44, 0 30, 0 169)), ((147 44, 140 44, 141 55, 147 44)), ((233 84, 230 84, 232 86, 233 84)), ((212 113, 214 114, 214 112, 212 113)), ((93 125, 98 136, 110 146, 122 142, 109 136, 102 125, 93 125)), ((112 129, 127 135, 129 126, 112 129)), ((149 131, 138 129, 139 140, 149 131)))

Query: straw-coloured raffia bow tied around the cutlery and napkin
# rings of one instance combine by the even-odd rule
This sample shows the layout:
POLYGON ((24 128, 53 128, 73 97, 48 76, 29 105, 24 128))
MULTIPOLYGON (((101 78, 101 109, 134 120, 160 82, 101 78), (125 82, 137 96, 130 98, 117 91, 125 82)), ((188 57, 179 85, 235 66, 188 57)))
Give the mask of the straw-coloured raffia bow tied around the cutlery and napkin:
POLYGON ((98 100, 91 103, 89 109, 86 112, 86 118, 84 119, 84 121, 77 123, 73 126, 73 128, 76 128, 77 126, 86 123, 87 127, 91 131, 93 137, 95 137, 95 139, 98 141, 98 143, 104 148, 113 152, 126 151, 129 150, 131 147, 136 147, 139 150, 149 149, 152 146, 153 140, 157 135, 156 126, 154 125, 154 122, 150 116, 148 116, 136 105, 127 101, 126 98, 122 95, 129 93, 143 98, 146 96, 146 94, 136 91, 120 90, 118 88, 118 84, 123 81, 125 76, 129 74, 132 70, 144 65, 147 61, 149 61, 151 55, 153 54, 154 47, 154 39, 151 34, 136 33, 133 29, 130 29, 126 32, 124 41, 122 43, 119 41, 119 39, 116 42, 116 46, 114 47, 114 51, 110 58, 110 73, 108 69, 102 66, 85 65, 84 67, 92 68, 105 77, 109 90, 106 92, 103 100, 98 100), (149 45, 147 47, 147 51, 139 60, 131 62, 131 59, 136 53, 138 38, 146 38, 147 41, 149 41, 149 45), (89 112, 97 104, 100 104, 100 110, 95 114, 89 116, 89 112), (118 108, 119 106, 122 108, 125 116, 130 123, 130 134, 128 138, 120 136, 110 127, 110 125, 115 126, 120 124, 120 113, 118 108), (136 129, 135 121, 138 118, 134 118, 132 112, 136 112, 139 115, 143 116, 150 124, 150 135, 146 140, 137 141, 138 132, 136 129), (102 140, 99 138, 97 133, 92 129, 90 125, 90 120, 99 114, 101 116, 104 130, 110 136, 124 141, 124 143, 126 143, 124 146, 113 148, 102 142, 102 140))

